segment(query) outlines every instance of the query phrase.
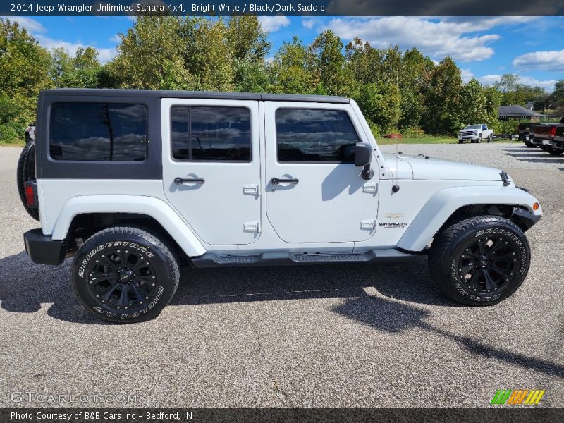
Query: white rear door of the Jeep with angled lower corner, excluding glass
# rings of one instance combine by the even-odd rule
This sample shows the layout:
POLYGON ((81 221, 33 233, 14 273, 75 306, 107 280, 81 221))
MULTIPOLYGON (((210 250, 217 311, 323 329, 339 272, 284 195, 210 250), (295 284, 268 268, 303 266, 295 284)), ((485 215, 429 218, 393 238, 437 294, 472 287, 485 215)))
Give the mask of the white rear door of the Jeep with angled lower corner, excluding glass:
MULTIPOLYGON (((235 245, 255 242, 259 238, 261 224, 258 102, 163 99, 162 125, 163 184, 168 201, 204 243, 235 245), (172 106, 229 106, 248 109, 251 161, 173 159, 172 106), (183 181, 176 183, 176 178, 183 181)), ((200 145, 208 142, 207 139, 195 139, 200 145)))

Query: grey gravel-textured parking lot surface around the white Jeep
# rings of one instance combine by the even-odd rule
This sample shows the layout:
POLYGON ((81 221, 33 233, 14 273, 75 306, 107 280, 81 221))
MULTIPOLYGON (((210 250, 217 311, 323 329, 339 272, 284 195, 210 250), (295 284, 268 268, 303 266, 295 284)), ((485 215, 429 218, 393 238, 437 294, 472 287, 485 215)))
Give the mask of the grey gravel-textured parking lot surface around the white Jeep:
MULTIPOLYGON (((158 319, 87 314, 69 261, 32 264, 38 226, 16 191, 20 149, 0 147, 0 406, 11 393, 130 394, 133 407, 487 407, 497 389, 546 389, 564 406, 564 157, 518 143, 399 145, 503 168, 536 195, 529 277, 500 305, 443 298, 427 260, 188 269, 158 319)), ((395 152, 395 146, 384 151, 395 152)), ((106 406, 49 403, 49 406, 106 406)))

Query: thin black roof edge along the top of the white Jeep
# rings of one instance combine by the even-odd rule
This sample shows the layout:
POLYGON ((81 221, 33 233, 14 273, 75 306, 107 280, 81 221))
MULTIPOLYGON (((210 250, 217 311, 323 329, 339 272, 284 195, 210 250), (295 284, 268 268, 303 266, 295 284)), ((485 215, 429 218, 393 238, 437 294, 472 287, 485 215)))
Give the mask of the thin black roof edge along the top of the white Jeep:
POLYGON ((314 102, 348 104, 350 99, 330 95, 304 94, 262 94, 252 92, 209 92, 209 91, 168 91, 168 90, 114 90, 106 88, 57 88, 44 90, 49 96, 109 96, 109 97, 152 97, 176 99, 220 99, 255 100, 267 102, 314 102))

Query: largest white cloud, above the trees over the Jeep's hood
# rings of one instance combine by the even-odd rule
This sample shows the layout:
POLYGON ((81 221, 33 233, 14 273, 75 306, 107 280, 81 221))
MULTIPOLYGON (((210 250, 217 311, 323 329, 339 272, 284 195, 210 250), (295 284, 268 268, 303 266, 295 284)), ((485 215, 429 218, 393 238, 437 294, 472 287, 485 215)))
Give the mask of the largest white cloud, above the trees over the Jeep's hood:
POLYGON ((482 61, 494 55, 494 49, 489 44, 501 37, 498 34, 477 35, 476 32, 504 23, 532 19, 521 16, 464 18, 466 19, 436 20, 419 16, 333 18, 324 29, 333 30, 346 40, 360 37, 379 48, 396 44, 402 49, 415 46, 431 56, 431 59, 452 56, 458 61, 482 61))

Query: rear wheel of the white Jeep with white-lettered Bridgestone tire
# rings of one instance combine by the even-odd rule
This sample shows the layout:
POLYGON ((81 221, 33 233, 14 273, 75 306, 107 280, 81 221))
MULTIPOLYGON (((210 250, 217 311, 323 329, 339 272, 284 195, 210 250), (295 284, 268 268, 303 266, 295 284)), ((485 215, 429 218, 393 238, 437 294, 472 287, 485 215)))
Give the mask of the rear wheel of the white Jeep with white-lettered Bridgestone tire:
POLYGON ((88 238, 72 267, 79 302, 97 317, 114 322, 157 317, 180 280, 176 252, 166 239, 159 238, 141 228, 124 226, 88 238))

